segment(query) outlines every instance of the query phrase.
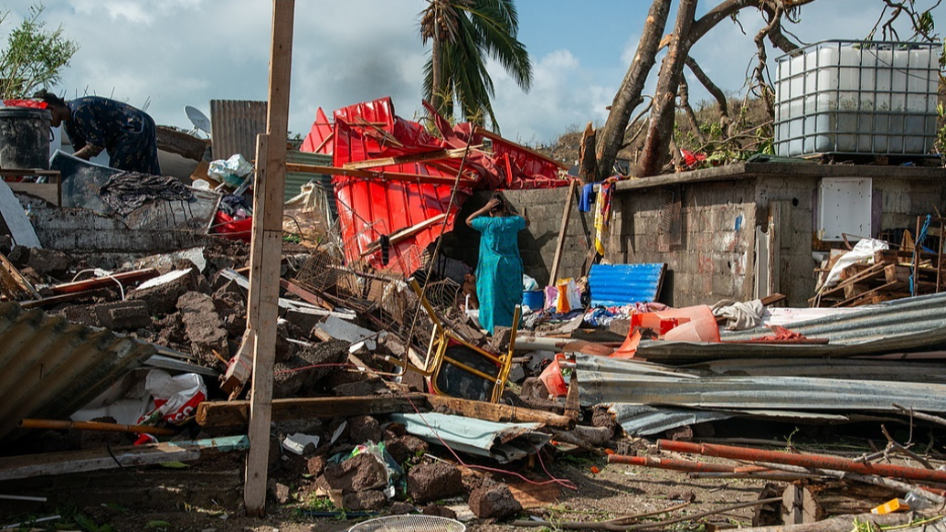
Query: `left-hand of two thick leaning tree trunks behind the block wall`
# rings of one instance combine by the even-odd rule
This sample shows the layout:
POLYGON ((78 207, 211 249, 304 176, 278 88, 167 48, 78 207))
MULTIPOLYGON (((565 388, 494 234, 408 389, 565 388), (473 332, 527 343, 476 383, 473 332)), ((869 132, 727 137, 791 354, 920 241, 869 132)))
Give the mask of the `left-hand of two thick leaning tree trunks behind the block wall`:
POLYGON ((607 115, 604 128, 598 135, 598 179, 603 180, 611 174, 614 159, 624 142, 624 128, 631 118, 631 113, 640 105, 647 75, 657 62, 657 50, 660 47, 660 37, 667 27, 667 18, 670 16, 670 5, 673 0, 654 0, 647 20, 644 23, 643 33, 640 35, 638 52, 634 56, 621 82, 621 89, 611 103, 611 112, 607 115))

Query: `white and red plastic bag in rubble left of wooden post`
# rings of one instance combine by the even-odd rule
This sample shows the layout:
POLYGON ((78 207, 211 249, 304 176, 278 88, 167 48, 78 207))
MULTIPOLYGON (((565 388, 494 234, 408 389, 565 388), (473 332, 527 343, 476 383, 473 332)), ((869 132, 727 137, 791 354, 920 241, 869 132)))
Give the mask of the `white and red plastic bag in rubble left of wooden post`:
POLYGON ((207 387, 196 373, 171 377, 166 371, 152 369, 145 378, 145 389, 154 398, 154 409, 138 419, 139 424, 158 418, 180 423, 193 416, 197 405, 207 399, 207 387))

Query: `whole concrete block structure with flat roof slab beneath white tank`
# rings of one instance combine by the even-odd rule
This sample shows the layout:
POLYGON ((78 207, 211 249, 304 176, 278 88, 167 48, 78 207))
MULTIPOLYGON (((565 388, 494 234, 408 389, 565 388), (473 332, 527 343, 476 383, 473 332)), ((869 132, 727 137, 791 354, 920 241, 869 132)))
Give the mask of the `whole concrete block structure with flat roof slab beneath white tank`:
POLYGON ((946 208, 946 174, 941 169, 803 165, 782 166, 771 173, 735 173, 719 180, 666 178, 660 186, 628 186, 616 192, 605 259, 666 262, 668 275, 660 300, 674 307, 750 299, 755 230, 768 230, 771 205, 779 204, 780 218, 773 222, 779 242, 778 291, 788 296, 788 306, 807 307, 815 294, 819 266, 812 257, 812 244, 820 179, 854 177, 862 171, 872 180, 871 236, 897 228, 915 232, 918 216, 936 216, 937 208, 940 212, 946 208), (660 225, 671 191, 682 197, 681 235, 674 245, 663 240, 660 225))

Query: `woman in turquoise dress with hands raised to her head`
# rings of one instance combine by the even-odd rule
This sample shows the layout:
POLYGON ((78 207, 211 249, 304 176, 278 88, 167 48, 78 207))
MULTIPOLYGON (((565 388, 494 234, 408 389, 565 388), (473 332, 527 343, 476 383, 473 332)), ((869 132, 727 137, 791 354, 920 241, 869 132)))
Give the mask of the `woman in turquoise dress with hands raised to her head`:
POLYGON ((471 214, 466 224, 481 233, 476 293, 480 325, 492 334, 497 326, 513 326, 513 313, 522 303, 522 257, 517 234, 529 226, 529 219, 512 214, 497 194, 471 214))

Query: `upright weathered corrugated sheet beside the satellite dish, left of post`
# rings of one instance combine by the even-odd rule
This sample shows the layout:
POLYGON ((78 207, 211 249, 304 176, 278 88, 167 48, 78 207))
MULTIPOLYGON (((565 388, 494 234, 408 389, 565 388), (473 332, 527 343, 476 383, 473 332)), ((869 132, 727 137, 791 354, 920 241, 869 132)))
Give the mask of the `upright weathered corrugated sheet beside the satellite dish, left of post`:
POLYGON ((266 133, 265 101, 210 100, 211 151, 214 159, 239 153, 247 161, 256 157, 256 135, 266 133))

